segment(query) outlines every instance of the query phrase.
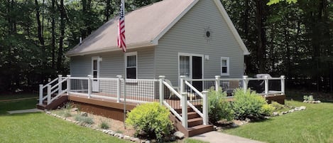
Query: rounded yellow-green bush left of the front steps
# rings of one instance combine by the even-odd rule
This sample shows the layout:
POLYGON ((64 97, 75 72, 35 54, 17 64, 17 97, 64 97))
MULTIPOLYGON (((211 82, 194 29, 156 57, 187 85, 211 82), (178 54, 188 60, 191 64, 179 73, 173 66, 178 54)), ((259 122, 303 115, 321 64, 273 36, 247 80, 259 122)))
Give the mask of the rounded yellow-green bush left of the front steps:
POLYGON ((127 114, 126 123, 136 129, 136 136, 162 139, 173 130, 170 112, 157 102, 138 105, 127 114))

